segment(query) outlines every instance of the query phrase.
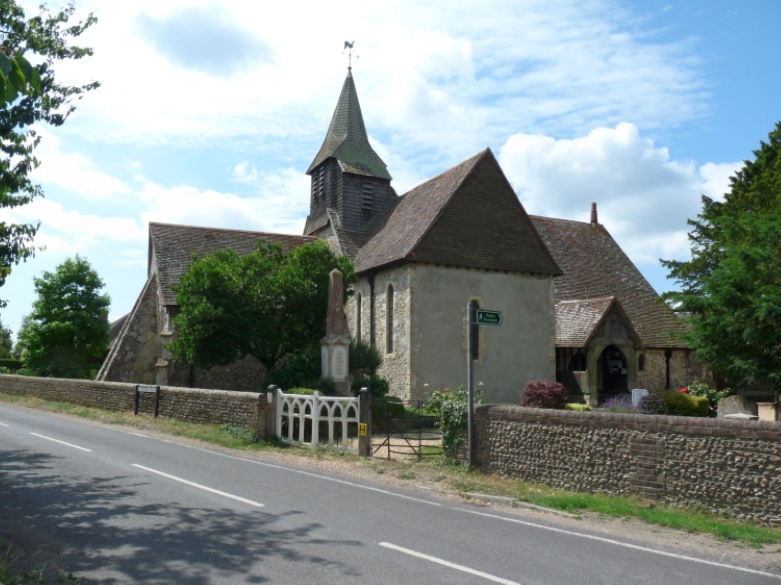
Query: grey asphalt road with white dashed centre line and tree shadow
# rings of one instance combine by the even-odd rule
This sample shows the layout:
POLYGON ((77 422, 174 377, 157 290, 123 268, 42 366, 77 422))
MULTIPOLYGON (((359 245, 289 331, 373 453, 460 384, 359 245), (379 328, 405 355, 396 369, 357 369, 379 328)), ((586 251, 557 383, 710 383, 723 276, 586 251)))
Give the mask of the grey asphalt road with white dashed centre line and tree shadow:
POLYGON ((0 405, 0 530, 96 583, 779 583, 716 558, 0 405))

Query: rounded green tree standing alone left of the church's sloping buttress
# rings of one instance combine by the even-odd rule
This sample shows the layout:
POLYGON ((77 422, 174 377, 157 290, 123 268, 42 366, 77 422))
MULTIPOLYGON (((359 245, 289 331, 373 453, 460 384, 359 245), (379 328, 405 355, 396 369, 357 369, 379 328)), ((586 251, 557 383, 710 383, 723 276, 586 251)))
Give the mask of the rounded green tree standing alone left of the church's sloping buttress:
POLYGON ((109 348, 111 299, 87 259, 66 259, 34 279, 37 299, 19 332, 26 369, 38 376, 95 377, 109 348))

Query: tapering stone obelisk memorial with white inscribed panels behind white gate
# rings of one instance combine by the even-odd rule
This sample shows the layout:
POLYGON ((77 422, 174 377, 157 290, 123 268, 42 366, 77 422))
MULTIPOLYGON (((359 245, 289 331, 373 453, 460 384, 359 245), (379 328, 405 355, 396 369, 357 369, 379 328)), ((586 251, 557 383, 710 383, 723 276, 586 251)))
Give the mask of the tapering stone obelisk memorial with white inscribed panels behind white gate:
POLYGON ((320 373, 336 384, 337 394, 350 394, 350 337, 344 318, 344 284, 342 273, 333 269, 328 276, 328 319, 326 337, 320 340, 320 373))

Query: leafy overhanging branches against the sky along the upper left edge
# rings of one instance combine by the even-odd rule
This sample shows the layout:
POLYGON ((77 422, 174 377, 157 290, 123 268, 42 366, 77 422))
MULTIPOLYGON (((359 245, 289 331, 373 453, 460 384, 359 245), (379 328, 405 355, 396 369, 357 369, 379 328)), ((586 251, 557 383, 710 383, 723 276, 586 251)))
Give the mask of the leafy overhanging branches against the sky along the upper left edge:
MULTIPOLYGON (((90 14, 69 23, 74 11, 73 2, 55 13, 42 6, 39 14, 27 19, 16 0, 0 2, 0 33, 5 35, 0 47, 0 209, 26 205, 43 195, 29 176, 38 166, 34 150, 41 140, 30 126, 41 121, 61 126, 75 109, 73 99, 99 85, 93 81, 69 86, 55 79, 55 62, 92 55, 91 48, 69 42, 97 19, 90 14), (37 65, 30 66, 26 57, 37 65)), ((38 227, 39 223, 0 222, 0 286, 12 265, 34 256, 38 227)))

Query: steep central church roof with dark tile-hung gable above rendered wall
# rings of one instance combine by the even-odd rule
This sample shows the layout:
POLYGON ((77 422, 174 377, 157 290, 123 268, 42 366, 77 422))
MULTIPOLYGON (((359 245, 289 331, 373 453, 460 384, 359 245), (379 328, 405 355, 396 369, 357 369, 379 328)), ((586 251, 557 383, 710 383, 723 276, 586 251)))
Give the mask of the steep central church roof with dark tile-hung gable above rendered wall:
POLYGON ((398 198, 369 230, 355 269, 402 259, 561 273, 490 149, 398 198))

